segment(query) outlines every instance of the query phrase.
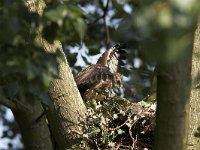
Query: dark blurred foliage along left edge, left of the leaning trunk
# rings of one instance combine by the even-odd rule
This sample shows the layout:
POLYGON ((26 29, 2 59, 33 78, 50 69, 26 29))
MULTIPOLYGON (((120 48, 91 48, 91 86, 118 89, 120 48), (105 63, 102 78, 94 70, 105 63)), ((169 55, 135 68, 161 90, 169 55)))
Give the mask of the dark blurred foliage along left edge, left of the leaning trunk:
POLYGON ((4 96, 25 100, 46 90, 57 75, 56 54, 45 53, 36 41, 37 14, 21 2, 4 1, 1 8, 0 85, 4 96))

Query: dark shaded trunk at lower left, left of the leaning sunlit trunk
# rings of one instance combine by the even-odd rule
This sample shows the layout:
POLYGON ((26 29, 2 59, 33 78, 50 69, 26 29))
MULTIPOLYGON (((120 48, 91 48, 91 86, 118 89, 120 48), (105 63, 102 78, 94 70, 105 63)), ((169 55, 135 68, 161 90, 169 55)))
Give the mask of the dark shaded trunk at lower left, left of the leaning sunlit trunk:
MULTIPOLYGON (((30 104, 26 104, 26 106, 30 106, 30 104)), ((49 127, 47 125, 47 119, 45 116, 41 117, 43 112, 44 110, 39 101, 32 103, 30 110, 13 111, 26 149, 54 149, 49 127)))

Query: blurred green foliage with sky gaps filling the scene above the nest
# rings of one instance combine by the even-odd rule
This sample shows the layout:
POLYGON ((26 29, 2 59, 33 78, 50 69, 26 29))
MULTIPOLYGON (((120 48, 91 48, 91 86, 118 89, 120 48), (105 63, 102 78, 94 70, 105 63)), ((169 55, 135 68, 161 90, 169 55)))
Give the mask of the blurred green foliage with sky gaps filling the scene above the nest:
POLYGON ((129 74, 123 94, 132 101, 145 100, 155 92, 151 85, 156 62, 187 55, 199 10, 197 0, 186 5, 178 0, 110 0, 108 5, 104 1, 48 0, 47 6, 40 16, 28 12, 22 1, 0 1, 0 98, 44 99, 50 105, 44 93, 57 77, 60 55, 42 50, 37 40, 40 31, 48 42, 62 42, 74 73, 113 43, 127 43, 129 74))

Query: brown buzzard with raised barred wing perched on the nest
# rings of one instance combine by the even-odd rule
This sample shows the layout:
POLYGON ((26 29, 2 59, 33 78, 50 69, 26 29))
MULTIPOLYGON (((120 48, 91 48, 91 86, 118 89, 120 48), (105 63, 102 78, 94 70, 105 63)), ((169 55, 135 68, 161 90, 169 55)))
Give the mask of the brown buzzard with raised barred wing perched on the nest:
POLYGON ((126 59, 126 45, 116 44, 106 50, 96 64, 83 69, 75 81, 83 97, 86 91, 97 93, 122 87, 122 70, 126 59))

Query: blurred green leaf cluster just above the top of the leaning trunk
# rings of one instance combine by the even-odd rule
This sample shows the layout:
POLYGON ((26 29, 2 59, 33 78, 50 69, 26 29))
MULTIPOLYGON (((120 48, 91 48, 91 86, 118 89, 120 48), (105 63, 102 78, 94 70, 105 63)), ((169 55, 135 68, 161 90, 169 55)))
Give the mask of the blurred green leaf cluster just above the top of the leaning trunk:
POLYGON ((47 7, 41 24, 43 36, 49 42, 58 39, 65 43, 79 43, 86 30, 83 16, 83 11, 75 5, 57 4, 47 7))

